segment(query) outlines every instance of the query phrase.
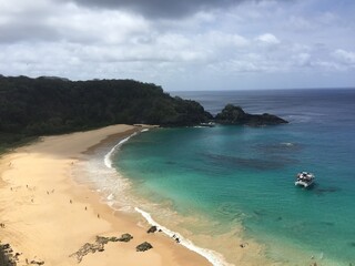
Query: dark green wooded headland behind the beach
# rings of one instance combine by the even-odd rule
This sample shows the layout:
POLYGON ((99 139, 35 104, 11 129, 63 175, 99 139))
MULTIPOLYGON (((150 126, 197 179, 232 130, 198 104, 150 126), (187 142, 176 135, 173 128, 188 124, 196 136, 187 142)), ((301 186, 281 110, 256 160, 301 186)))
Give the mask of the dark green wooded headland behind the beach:
POLYGON ((212 115, 194 101, 133 80, 69 81, 0 75, 0 150, 27 137, 110 124, 194 125, 212 115))

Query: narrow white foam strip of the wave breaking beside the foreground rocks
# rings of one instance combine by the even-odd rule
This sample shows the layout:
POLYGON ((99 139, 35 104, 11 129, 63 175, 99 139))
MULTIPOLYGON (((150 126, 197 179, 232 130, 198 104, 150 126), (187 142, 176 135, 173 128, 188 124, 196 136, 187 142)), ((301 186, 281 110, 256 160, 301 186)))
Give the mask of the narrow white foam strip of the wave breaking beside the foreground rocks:
POLYGON ((140 209, 139 207, 135 207, 134 209, 138 213, 140 213, 149 224, 158 226, 165 235, 170 237, 174 237, 175 239, 179 238, 181 245, 205 257, 214 266, 232 266, 233 265, 233 264, 226 263, 221 254, 213 252, 211 249, 199 247, 194 245, 191 241, 184 238, 181 234, 170 231, 166 227, 158 224, 149 213, 140 209))

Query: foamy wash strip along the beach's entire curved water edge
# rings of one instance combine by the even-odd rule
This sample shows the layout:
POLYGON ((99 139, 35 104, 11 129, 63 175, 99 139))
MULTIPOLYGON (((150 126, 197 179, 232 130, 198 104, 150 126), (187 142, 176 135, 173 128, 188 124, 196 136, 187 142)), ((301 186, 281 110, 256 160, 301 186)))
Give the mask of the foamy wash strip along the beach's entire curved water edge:
MULTIPOLYGON (((104 143, 102 143, 102 145, 98 146, 98 149, 92 150, 89 153, 89 158, 88 158, 89 161, 84 162, 84 165, 78 165, 79 172, 83 172, 83 171, 89 172, 89 173, 84 174, 85 176, 92 175, 92 173, 90 173, 92 171, 94 171, 95 173, 98 173, 98 171, 100 171, 100 175, 103 175, 104 180, 109 181, 109 184, 113 185, 114 188, 112 188, 110 186, 110 192, 102 190, 102 186, 105 186, 105 185, 101 184, 100 182, 97 182, 97 178, 93 178, 95 181, 83 180, 83 181, 79 181, 79 183, 83 182, 83 185, 88 185, 88 182, 93 183, 92 190, 100 191, 99 193, 101 195, 101 201, 103 203, 108 204, 114 211, 116 211, 118 213, 124 212, 124 213, 126 213, 129 215, 133 215, 133 216, 138 215, 139 216, 138 219, 140 221, 141 226, 143 225, 143 226, 148 226, 148 227, 151 227, 151 226, 156 227, 156 231, 161 232, 162 235, 172 239, 173 242, 179 243, 180 245, 184 246, 189 250, 201 255, 202 257, 207 259, 211 263, 211 265, 233 266, 233 264, 230 264, 224 259, 223 255, 219 254, 215 250, 196 246, 194 243, 191 242, 191 239, 183 237, 179 232, 171 231, 170 228, 166 228, 164 225, 155 222, 151 217, 150 213, 146 213, 146 212, 142 211, 140 207, 136 207, 136 206, 142 205, 142 202, 141 202, 142 198, 140 198, 140 196, 138 196, 138 195, 132 195, 129 192, 130 187, 131 187, 131 182, 128 181, 129 184, 126 186, 126 184, 125 184, 126 178, 124 177, 124 175, 121 174, 121 172, 119 172, 116 170, 116 167, 112 166, 111 158, 112 158, 112 156, 114 156, 115 153, 120 152, 120 147, 124 143, 130 141, 132 137, 134 137, 143 132, 146 132, 149 130, 150 129, 143 127, 143 130, 140 130, 140 131, 134 131, 134 132, 131 131, 130 135, 122 136, 119 140, 116 137, 109 137, 106 141, 104 141, 104 143), (85 170, 85 167, 88 165, 90 165, 89 171, 85 170), (94 165, 94 166, 92 166, 92 165, 94 165), (101 172, 102 168, 103 168, 103 172, 101 172), (108 174, 108 172, 109 172, 109 174, 108 174), (113 174, 113 176, 111 174, 113 174), (110 183, 110 180, 114 180, 114 182, 110 183), (115 183, 120 184, 119 188, 115 183), (116 202, 115 201, 116 197, 114 196, 116 194, 119 194, 120 197, 128 198, 128 200, 123 201, 123 202, 122 201, 116 202)), ((150 203, 145 198, 143 201, 144 201, 143 205, 145 205, 146 203, 150 203)))

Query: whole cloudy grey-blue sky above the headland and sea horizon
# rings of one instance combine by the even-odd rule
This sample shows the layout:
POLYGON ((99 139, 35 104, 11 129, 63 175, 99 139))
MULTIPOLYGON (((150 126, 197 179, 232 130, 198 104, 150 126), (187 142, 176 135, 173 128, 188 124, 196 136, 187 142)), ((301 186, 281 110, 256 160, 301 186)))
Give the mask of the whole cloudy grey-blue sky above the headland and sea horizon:
POLYGON ((354 0, 0 0, 0 74, 355 88, 354 0))

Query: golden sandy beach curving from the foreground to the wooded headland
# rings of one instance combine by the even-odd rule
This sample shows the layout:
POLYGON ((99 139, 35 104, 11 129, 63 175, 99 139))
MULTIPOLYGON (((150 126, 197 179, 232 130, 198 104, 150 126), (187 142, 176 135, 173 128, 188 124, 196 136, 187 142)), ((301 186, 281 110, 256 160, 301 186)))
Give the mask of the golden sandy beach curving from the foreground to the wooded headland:
POLYGON ((1 157, 0 239, 20 254, 18 265, 78 265, 75 253, 85 243, 124 233, 133 239, 109 242, 103 250, 83 256, 79 265, 211 265, 162 233, 148 234, 148 224, 141 226, 136 217, 114 213, 97 192, 73 181, 71 168, 89 149, 109 136, 120 140, 138 130, 142 127, 113 125, 45 136, 1 157), (143 242, 153 248, 136 252, 143 242))

